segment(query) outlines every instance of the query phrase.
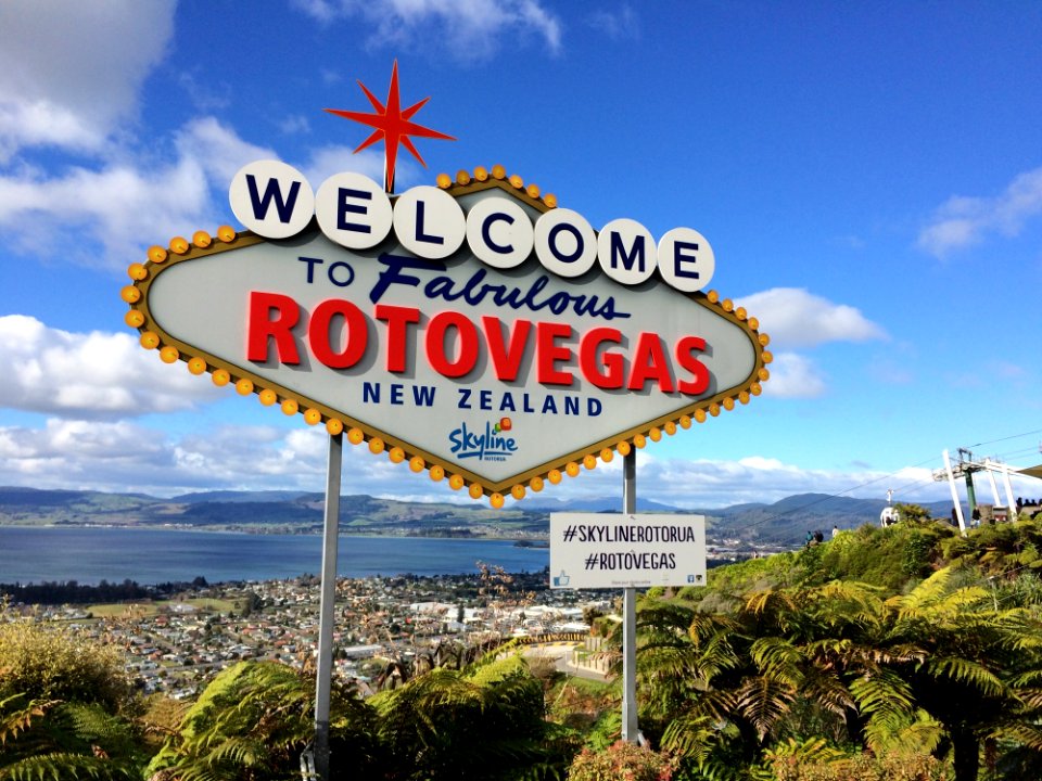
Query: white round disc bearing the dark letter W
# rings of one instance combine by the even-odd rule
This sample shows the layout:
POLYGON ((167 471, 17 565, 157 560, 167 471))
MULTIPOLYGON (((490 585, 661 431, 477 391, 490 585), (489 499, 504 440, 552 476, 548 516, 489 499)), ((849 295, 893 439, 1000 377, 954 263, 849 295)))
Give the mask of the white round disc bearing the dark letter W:
POLYGON ((256 161, 239 169, 228 188, 236 218, 265 239, 289 239, 312 221, 315 194, 296 168, 280 161, 256 161))

